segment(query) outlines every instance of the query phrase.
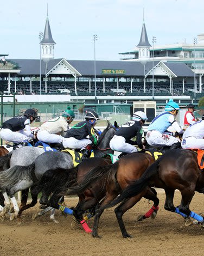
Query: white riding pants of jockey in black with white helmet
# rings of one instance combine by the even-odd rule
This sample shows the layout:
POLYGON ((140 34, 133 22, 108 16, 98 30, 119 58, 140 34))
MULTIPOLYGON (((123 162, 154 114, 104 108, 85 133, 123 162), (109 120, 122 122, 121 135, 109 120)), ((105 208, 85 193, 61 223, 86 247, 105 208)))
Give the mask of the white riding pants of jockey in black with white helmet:
POLYGON ((137 152, 137 148, 133 145, 126 143, 123 136, 114 135, 110 141, 110 148, 114 151, 119 151, 123 153, 133 153, 137 152))

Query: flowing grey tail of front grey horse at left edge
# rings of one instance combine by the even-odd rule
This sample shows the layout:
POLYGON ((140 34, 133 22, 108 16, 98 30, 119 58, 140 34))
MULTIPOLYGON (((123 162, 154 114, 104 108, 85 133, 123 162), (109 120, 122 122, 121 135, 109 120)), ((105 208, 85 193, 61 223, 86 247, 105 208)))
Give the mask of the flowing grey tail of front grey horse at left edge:
POLYGON ((7 188, 8 186, 16 185, 20 180, 32 180, 36 181, 34 174, 35 163, 29 164, 29 166, 13 166, 8 170, 0 172, 0 187, 7 188))

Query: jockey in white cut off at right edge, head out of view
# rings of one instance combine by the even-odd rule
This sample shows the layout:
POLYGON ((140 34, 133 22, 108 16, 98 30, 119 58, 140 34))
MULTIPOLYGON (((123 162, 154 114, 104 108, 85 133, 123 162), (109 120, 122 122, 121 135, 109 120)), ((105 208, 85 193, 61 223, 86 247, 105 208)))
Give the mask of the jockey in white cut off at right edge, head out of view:
POLYGON ((183 149, 204 149, 204 115, 202 120, 190 125, 183 133, 183 149))

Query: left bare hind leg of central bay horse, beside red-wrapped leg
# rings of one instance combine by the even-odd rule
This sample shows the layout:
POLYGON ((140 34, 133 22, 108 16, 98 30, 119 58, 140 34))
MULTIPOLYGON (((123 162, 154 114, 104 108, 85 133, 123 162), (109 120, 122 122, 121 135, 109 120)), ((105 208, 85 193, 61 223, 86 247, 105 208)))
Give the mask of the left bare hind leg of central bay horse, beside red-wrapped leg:
POLYGON ((100 216, 104 212, 104 209, 102 208, 102 206, 110 204, 110 202, 112 202, 112 200, 114 200, 117 196, 118 196, 117 191, 106 192, 106 196, 105 196, 105 199, 103 200, 103 202, 96 206, 93 231, 92 231, 93 237, 100 238, 100 236, 98 235, 98 224, 99 224, 100 216))

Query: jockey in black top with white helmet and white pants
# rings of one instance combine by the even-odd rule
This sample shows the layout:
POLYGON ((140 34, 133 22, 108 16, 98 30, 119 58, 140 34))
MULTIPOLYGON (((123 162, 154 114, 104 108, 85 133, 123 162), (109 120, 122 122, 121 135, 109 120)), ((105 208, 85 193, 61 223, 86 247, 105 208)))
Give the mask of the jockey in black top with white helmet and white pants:
POLYGON ((110 141, 110 148, 126 154, 138 151, 133 145, 138 145, 139 148, 144 149, 145 147, 142 144, 142 125, 145 120, 148 120, 148 118, 144 112, 135 112, 132 116, 132 121, 128 121, 116 131, 110 141), (131 141, 131 138, 135 136, 137 136, 137 141, 131 141))

